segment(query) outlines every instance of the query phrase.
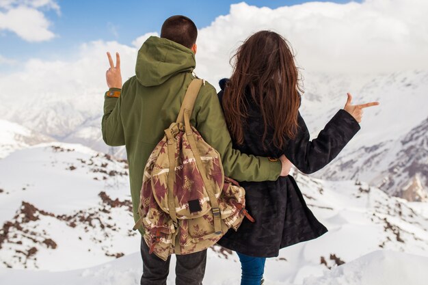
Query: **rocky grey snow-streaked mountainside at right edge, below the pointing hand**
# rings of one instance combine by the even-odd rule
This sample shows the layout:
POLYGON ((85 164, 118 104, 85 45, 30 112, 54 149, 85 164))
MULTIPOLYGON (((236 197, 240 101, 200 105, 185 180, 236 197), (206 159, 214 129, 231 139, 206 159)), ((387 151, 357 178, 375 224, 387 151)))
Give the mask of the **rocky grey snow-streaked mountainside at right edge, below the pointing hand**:
POLYGON ((360 179, 409 201, 428 200, 428 118, 397 140, 382 141, 341 155, 322 174, 360 179))

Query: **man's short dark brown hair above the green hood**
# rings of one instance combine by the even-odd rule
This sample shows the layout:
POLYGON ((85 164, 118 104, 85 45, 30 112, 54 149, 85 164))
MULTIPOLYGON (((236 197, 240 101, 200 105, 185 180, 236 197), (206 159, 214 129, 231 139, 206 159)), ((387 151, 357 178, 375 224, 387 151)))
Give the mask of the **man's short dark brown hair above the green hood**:
POLYGON ((191 49, 193 44, 196 44, 197 37, 198 29, 195 23, 186 16, 170 16, 163 22, 161 38, 172 40, 191 49))

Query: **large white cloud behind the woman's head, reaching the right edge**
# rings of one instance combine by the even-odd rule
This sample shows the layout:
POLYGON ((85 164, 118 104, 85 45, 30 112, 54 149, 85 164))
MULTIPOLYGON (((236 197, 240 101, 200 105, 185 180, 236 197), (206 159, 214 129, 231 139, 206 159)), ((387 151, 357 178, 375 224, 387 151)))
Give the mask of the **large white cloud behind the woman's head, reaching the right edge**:
POLYGON ((278 9, 232 5, 198 36, 198 75, 230 74, 228 59, 254 31, 270 29, 291 42, 307 71, 393 72, 428 69, 428 1, 312 2, 278 9))

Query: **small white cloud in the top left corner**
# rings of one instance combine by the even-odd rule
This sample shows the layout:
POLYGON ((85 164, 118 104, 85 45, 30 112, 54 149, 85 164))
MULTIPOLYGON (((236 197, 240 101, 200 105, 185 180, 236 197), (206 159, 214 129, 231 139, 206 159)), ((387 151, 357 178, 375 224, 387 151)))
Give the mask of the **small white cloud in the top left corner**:
POLYGON ((0 0, 0 30, 12 31, 28 42, 50 40, 55 34, 40 9, 59 14, 59 5, 52 0, 0 0))

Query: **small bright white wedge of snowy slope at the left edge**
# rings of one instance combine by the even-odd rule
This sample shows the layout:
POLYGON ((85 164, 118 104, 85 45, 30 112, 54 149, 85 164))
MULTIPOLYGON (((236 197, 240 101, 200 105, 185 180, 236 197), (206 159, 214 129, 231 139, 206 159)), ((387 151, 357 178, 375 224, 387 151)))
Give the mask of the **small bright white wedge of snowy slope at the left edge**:
POLYGON ((45 141, 53 141, 50 137, 36 133, 19 124, 0 120, 0 159, 15 150, 27 148, 45 141))

